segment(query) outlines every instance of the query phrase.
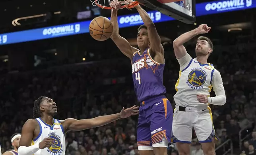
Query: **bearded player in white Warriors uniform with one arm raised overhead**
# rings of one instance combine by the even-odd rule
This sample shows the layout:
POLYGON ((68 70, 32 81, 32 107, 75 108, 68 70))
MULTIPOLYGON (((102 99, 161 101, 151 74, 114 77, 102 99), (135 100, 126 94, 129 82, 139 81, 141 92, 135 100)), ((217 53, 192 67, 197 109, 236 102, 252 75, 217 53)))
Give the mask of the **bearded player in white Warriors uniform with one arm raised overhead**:
MULTIPOLYGON (((175 85, 176 108, 173 116, 173 142, 179 155, 190 155, 192 127, 202 144, 205 155, 215 155, 215 131, 209 104, 223 105, 225 90, 220 73, 207 62, 213 51, 213 44, 207 37, 200 36, 196 43, 196 59, 192 59, 183 44, 198 34, 211 30, 205 24, 182 34, 173 42, 174 52, 180 64, 180 76, 175 85), (214 89, 215 97, 209 92, 214 89)), ((217 139, 217 138, 216 138, 217 139)))

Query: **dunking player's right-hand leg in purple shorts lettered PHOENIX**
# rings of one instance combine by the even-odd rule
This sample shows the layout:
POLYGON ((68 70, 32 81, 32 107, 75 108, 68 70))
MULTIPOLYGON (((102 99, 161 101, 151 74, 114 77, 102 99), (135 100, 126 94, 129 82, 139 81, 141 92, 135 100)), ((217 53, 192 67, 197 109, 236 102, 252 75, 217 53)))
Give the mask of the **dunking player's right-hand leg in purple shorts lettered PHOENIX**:
POLYGON ((167 155, 171 142, 173 108, 167 98, 159 99, 151 105, 150 118, 151 141, 155 155, 167 155), (159 104, 160 103, 160 104, 159 104))

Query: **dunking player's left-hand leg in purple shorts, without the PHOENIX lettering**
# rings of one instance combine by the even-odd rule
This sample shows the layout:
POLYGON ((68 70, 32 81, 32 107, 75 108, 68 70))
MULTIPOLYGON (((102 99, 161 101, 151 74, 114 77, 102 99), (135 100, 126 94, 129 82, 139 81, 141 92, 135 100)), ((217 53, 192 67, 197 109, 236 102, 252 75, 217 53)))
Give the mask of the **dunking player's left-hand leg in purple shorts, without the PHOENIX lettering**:
POLYGON ((147 119, 143 116, 141 108, 137 127, 138 150, 140 155, 153 155, 149 124, 147 123, 147 119))

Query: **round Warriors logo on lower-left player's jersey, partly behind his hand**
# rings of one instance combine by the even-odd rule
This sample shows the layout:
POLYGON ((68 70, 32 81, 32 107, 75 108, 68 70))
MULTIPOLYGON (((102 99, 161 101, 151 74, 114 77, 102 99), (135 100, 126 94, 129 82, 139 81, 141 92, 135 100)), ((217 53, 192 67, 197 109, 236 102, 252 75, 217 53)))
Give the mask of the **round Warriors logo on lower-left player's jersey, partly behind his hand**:
POLYGON ((62 149, 62 144, 60 141, 60 136, 58 136, 56 133, 51 132, 47 135, 48 138, 54 138, 55 141, 52 144, 52 146, 50 146, 48 148, 48 153, 50 153, 51 155, 61 155, 63 152, 62 149))

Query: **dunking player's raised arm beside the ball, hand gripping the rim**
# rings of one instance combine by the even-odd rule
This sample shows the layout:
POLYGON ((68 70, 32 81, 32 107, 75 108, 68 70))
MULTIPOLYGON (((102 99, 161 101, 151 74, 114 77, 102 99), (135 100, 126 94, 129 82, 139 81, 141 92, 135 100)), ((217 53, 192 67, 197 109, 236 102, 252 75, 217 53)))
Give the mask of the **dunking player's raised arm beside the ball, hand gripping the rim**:
POLYGON ((119 28, 117 22, 117 10, 120 8, 120 4, 117 3, 115 0, 111 2, 111 6, 113 10, 111 11, 111 23, 113 25, 113 32, 111 35, 111 39, 116 44, 116 46, 120 49, 124 55, 128 58, 132 59, 134 52, 139 51, 135 47, 132 47, 130 43, 119 35, 119 28))

